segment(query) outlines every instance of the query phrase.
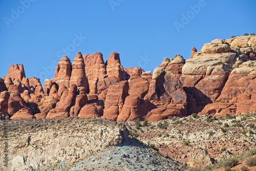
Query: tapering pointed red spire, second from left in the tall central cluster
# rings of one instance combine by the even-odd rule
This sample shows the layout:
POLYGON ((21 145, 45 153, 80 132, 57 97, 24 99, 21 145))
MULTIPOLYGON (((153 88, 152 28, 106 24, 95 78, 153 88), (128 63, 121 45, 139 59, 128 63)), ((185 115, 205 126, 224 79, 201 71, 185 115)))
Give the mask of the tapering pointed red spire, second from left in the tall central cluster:
POLYGON ((77 87, 84 87, 86 93, 89 93, 88 79, 81 52, 78 52, 74 58, 69 84, 70 86, 76 84, 77 87))

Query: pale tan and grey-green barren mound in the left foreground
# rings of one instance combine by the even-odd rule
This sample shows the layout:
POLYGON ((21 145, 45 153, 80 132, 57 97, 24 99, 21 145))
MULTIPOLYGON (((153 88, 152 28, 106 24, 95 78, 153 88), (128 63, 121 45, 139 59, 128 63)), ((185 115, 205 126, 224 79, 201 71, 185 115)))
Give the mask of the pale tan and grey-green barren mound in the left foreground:
POLYGON ((120 122, 69 117, 9 120, 8 126, 8 168, 0 162, 6 170, 186 169, 132 138, 120 122))

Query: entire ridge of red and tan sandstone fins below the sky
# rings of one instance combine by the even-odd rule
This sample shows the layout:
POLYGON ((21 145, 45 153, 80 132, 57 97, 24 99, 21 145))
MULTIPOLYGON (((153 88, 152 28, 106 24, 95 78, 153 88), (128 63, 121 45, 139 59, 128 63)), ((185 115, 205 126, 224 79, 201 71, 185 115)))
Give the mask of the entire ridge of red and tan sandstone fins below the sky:
POLYGON ((169 116, 256 111, 256 36, 215 39, 189 59, 165 57, 154 72, 123 68, 113 52, 64 56, 52 79, 26 78, 23 65, 0 79, 0 111, 11 119, 102 117, 159 121, 169 116))

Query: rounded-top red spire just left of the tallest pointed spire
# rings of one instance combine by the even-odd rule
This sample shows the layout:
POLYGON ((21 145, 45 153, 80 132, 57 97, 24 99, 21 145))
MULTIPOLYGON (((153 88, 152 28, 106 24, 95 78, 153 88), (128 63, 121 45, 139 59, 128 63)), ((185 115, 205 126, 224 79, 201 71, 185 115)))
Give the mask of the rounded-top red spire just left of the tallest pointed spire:
POLYGON ((67 56, 63 56, 56 67, 53 82, 58 84, 58 87, 65 85, 69 88, 69 80, 71 77, 71 61, 67 56))

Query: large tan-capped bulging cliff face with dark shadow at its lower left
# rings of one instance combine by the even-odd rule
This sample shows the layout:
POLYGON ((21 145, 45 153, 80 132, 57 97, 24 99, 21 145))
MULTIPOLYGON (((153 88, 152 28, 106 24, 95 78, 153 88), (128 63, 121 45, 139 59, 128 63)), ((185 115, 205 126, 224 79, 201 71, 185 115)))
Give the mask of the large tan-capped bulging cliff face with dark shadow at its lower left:
POLYGON ((186 60, 180 81, 184 91, 189 94, 188 114, 200 112, 205 105, 216 101, 220 96, 232 70, 228 62, 234 60, 236 56, 236 53, 226 52, 230 50, 226 46, 228 45, 224 40, 213 40, 203 46, 203 51, 195 53, 193 58, 186 60), (210 50, 210 47, 215 49, 210 50), (196 106, 190 103, 194 101, 196 106))

